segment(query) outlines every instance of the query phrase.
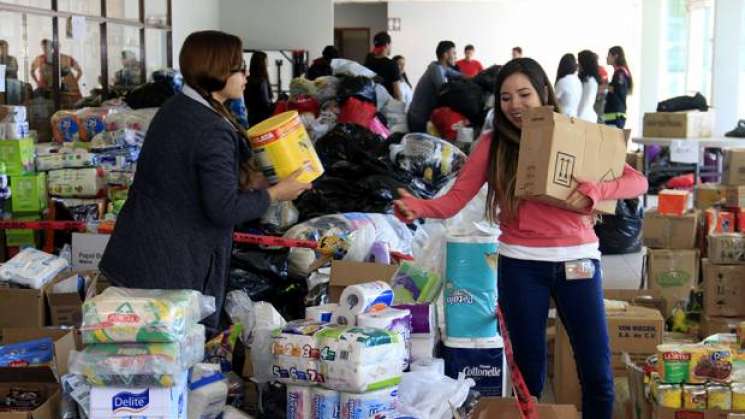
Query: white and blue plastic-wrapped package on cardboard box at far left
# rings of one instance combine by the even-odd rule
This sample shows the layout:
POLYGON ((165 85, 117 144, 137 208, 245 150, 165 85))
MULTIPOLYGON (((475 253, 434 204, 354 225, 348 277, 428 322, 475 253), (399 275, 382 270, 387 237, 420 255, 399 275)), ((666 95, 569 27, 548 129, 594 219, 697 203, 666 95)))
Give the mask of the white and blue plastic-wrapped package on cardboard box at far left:
POLYGON ((26 248, 0 266, 0 279, 29 288, 42 289, 68 266, 69 263, 64 258, 34 248, 26 248))

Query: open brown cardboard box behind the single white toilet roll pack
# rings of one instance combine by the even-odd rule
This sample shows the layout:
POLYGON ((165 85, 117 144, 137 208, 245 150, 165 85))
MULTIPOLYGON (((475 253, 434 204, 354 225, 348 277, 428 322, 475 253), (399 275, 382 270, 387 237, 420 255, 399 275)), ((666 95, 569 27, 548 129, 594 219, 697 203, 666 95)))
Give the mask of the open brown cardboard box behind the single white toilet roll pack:
POLYGON ((398 272, 398 266, 394 265, 335 260, 331 262, 330 302, 338 303, 342 291, 349 285, 373 281, 383 281, 390 284, 396 272, 398 272))

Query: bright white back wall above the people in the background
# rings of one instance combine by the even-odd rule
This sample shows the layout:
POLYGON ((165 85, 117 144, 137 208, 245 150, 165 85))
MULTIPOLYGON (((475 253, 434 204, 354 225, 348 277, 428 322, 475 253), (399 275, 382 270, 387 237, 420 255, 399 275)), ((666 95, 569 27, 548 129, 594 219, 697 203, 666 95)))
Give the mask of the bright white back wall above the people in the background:
MULTIPOLYGON (((391 32, 393 54, 407 58, 412 82, 435 59, 437 42, 445 39, 455 42, 459 56, 466 44, 474 44, 484 66, 504 64, 519 45, 552 80, 563 54, 590 49, 604 64, 608 48, 618 44, 639 82, 641 2, 625 0, 622 7, 618 0, 389 2, 388 17, 401 19, 401 31, 391 32)), ((639 120, 638 102, 639 95, 629 97, 630 128, 639 128, 634 122, 639 120)))

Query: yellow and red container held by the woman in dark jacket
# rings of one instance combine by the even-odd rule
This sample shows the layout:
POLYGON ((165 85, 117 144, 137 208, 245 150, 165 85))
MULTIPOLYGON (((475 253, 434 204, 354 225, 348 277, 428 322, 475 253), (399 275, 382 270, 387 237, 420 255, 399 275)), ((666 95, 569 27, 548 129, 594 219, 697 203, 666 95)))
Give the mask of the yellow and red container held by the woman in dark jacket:
POLYGON ((251 148, 264 176, 277 183, 298 169, 298 180, 311 183, 323 174, 323 165, 296 111, 284 112, 248 130, 251 148))

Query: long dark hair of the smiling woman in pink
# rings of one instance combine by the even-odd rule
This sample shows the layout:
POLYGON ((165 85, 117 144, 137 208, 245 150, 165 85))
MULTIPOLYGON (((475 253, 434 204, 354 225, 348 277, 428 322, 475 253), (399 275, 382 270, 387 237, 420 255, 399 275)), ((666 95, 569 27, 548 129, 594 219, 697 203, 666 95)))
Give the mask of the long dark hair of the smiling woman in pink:
POLYGON ((518 198, 515 196, 515 183, 521 131, 507 119, 499 103, 504 81, 516 73, 521 73, 530 80, 530 84, 541 99, 541 105, 553 106, 554 112, 559 112, 551 82, 535 60, 516 58, 499 70, 495 92, 497 103, 494 106, 494 131, 489 147, 487 172, 489 192, 486 198, 486 215, 493 222, 497 221, 497 209, 500 207, 507 219, 512 219, 517 214, 518 198))

